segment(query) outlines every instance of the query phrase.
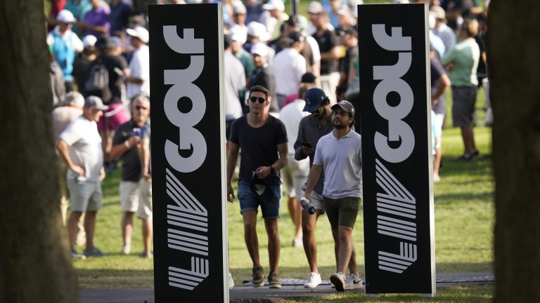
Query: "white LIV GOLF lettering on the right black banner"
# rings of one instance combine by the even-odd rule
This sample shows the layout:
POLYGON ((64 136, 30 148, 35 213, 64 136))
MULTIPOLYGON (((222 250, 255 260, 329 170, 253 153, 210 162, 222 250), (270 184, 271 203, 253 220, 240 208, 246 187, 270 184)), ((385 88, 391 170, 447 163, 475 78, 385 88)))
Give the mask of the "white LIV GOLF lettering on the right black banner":
MULTIPOLYGON (((411 156, 414 133, 403 119, 411 112, 414 95, 403 77, 411 67, 411 37, 403 36, 401 27, 392 27, 387 35, 384 24, 371 25, 376 43, 385 50, 397 52, 394 65, 373 67, 373 80, 382 80, 373 91, 375 110, 388 121, 388 136, 375 133, 375 149, 389 163, 401 163, 411 156), (387 102, 389 93, 399 95, 399 104, 387 102), (390 142, 399 144, 391 147, 390 142)), ((417 260, 416 198, 397 180, 379 159, 375 159, 375 176, 380 190, 377 192, 378 234, 399 239, 399 253, 378 252, 378 267, 384 271, 401 274, 417 260)))

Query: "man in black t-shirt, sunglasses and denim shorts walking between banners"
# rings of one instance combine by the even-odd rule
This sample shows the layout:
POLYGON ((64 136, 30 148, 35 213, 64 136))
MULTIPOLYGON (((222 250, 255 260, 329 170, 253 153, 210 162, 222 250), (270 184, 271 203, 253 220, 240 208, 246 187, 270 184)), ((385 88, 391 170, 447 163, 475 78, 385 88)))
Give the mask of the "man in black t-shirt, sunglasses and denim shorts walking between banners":
POLYGON ((261 207, 266 234, 270 288, 281 288, 278 277, 280 241, 278 233, 281 180, 279 170, 287 165, 287 132, 283 122, 268 113, 269 91, 262 86, 250 90, 250 112, 236 119, 231 126, 230 149, 227 157, 227 199, 234 201, 231 185, 238 152, 242 149, 238 177, 238 201, 244 221, 244 239, 253 262, 253 287, 264 285, 264 272, 259 260, 257 211, 261 207))

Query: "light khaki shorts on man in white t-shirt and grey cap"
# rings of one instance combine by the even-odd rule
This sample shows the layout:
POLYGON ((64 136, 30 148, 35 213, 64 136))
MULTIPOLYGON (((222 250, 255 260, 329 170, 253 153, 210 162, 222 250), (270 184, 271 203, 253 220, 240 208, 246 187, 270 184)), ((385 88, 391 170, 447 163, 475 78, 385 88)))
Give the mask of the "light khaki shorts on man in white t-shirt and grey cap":
POLYGON ((101 209, 101 183, 98 181, 77 182, 75 179, 68 179, 68 189, 70 191, 71 211, 86 212, 98 211, 101 209))

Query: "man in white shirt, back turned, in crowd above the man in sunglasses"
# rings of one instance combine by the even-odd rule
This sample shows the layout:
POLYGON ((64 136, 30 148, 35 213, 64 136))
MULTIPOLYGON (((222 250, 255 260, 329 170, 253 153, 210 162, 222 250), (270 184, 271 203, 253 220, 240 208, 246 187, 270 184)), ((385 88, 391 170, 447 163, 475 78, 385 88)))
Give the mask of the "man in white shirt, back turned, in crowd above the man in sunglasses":
POLYGON ((306 59, 300 55, 304 48, 304 36, 300 32, 292 32, 285 39, 288 39, 288 47, 274 58, 276 94, 280 109, 285 98, 298 91, 302 75, 306 73, 306 59))

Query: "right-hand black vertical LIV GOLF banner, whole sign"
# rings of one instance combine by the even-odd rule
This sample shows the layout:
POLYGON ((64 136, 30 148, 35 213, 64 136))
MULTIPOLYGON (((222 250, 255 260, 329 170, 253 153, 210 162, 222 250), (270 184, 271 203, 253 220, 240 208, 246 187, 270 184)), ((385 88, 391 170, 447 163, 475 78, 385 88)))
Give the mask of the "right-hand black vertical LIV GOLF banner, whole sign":
POLYGON ((366 293, 435 295, 428 6, 358 6, 366 293))

